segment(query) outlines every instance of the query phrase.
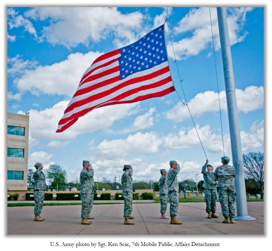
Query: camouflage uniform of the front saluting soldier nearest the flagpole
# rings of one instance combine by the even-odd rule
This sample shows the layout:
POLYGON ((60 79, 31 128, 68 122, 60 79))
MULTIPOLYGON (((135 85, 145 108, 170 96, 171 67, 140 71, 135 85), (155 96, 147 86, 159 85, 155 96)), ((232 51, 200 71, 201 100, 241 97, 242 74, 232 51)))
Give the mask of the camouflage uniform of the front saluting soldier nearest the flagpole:
POLYGON ((177 174, 180 172, 180 166, 176 169, 170 168, 166 175, 166 183, 168 188, 168 197, 170 201, 170 216, 177 215, 178 211, 178 182, 177 174))

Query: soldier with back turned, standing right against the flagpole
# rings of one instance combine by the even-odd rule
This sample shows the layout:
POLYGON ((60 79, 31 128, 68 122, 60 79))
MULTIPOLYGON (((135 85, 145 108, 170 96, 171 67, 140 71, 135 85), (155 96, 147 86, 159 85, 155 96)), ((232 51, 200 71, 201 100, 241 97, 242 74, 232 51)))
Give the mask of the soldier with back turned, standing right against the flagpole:
POLYGON ((221 157, 222 166, 215 169, 214 177, 216 184, 219 187, 219 201, 221 204, 222 214, 225 218, 222 223, 234 223, 235 209, 235 185, 234 177, 236 176, 236 170, 233 166, 228 165, 229 157, 221 157))

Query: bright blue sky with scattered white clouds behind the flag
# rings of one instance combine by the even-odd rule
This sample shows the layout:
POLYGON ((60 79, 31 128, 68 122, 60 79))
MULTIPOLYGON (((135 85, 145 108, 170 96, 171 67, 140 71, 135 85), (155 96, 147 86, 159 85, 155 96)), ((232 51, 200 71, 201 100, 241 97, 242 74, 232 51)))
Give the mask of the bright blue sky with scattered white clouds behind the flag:
MULTIPOLYGON (((87 159, 95 181, 118 179, 124 164, 134 167, 134 180, 155 181, 159 169, 177 160, 179 181, 195 180, 196 174, 201 180, 206 156, 193 122, 210 164, 220 165, 223 156, 217 82, 224 153, 232 158, 216 9, 210 10, 211 20, 208 7, 7 8, 7 111, 30 113, 28 167, 36 162, 45 169, 59 164, 70 182, 79 178, 82 160, 87 159), (55 133, 91 63, 162 25, 166 14, 167 51, 177 92, 97 108, 55 133), (193 121, 179 97, 183 102, 186 98, 193 121)), ((227 21, 242 152, 263 152, 264 9, 227 8, 227 21)))

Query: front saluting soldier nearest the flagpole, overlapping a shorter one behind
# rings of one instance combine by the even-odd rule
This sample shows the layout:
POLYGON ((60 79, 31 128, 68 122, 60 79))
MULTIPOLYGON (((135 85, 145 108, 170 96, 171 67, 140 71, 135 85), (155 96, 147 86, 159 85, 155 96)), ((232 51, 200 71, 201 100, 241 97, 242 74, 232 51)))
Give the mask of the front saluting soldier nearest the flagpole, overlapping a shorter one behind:
POLYGON ((170 201, 170 216, 171 221, 170 224, 182 224, 181 221, 176 219, 177 211, 178 211, 178 182, 177 182, 177 174, 180 172, 180 165, 175 161, 171 160, 169 162, 170 169, 166 175, 166 183, 168 188, 168 197, 170 201))

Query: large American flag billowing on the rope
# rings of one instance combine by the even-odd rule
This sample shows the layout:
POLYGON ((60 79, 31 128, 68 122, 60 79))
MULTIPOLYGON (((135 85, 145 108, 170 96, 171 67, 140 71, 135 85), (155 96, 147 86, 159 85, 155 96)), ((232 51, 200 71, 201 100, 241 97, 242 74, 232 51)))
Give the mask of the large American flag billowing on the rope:
POLYGON ((175 91, 165 45, 164 25, 137 42, 98 57, 58 123, 58 132, 79 117, 106 105, 133 103, 175 91))

